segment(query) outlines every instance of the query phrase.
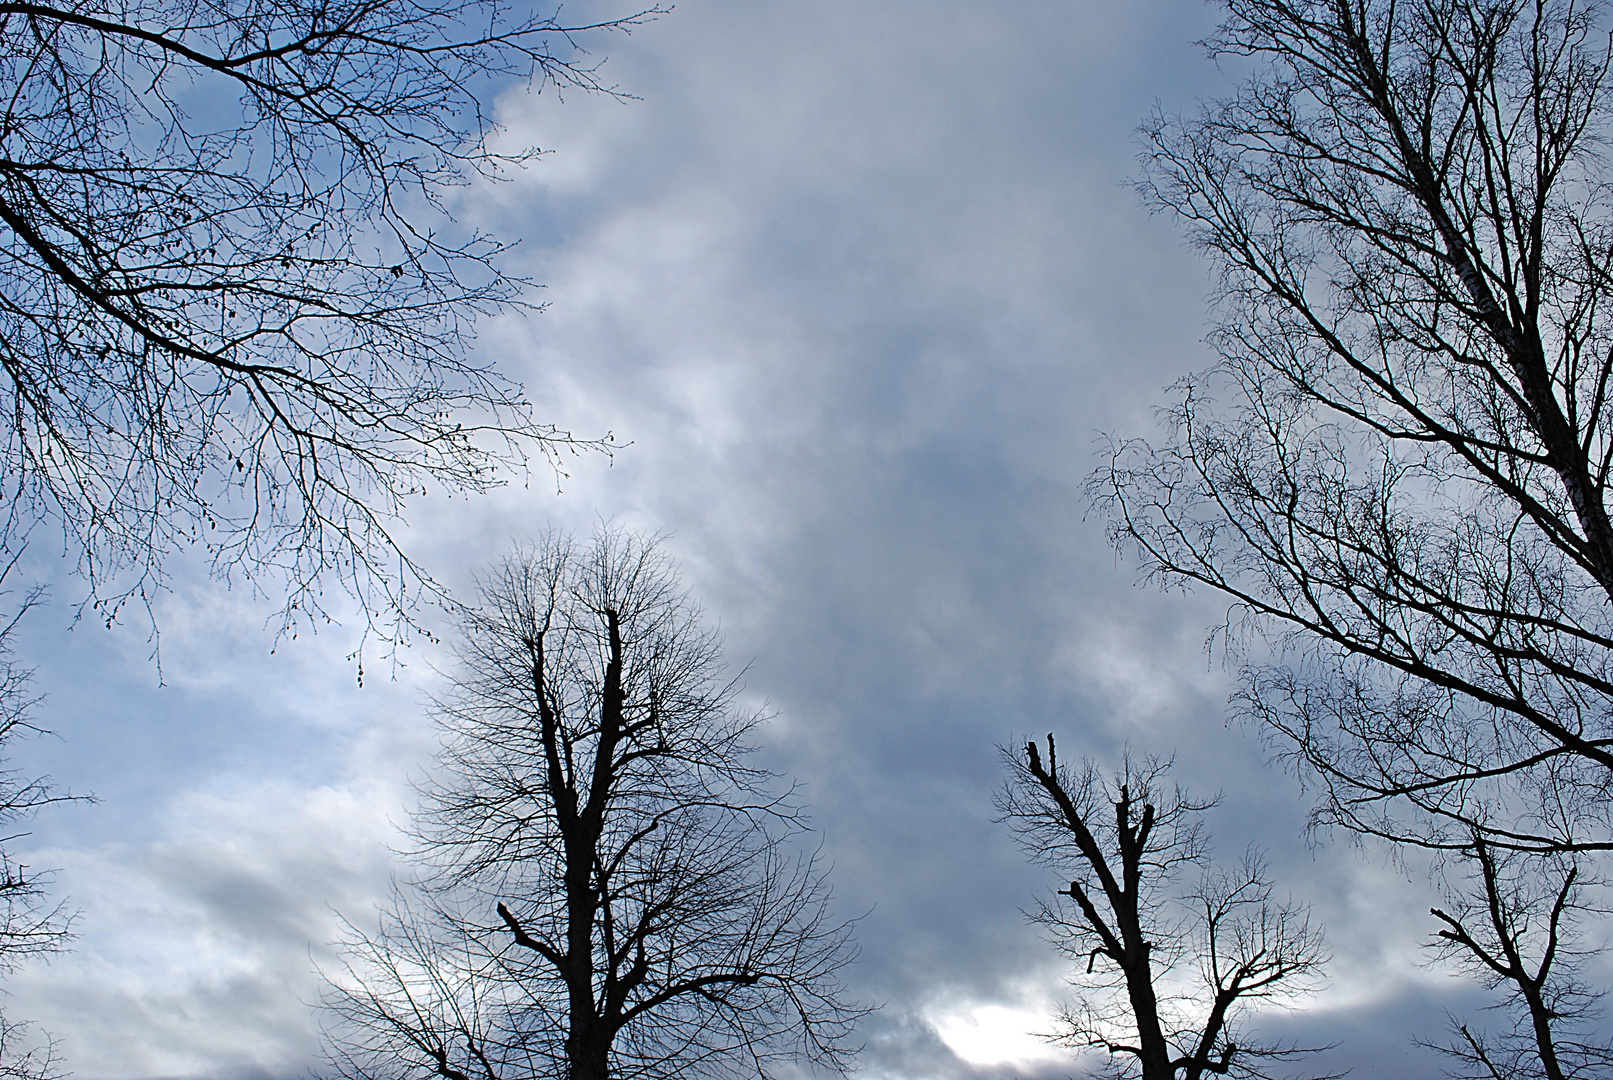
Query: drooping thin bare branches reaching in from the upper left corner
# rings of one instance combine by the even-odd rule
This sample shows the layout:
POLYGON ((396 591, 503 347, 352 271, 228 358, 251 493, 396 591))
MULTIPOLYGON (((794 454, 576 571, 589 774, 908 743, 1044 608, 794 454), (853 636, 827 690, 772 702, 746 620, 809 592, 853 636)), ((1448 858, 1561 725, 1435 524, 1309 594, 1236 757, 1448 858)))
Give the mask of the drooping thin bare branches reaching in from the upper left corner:
POLYGON ((177 548, 321 614, 429 577, 405 503, 576 440, 465 353, 519 301, 453 189, 515 81, 615 92, 589 26, 497 0, 0 2, 0 550, 58 524, 111 619, 177 548))

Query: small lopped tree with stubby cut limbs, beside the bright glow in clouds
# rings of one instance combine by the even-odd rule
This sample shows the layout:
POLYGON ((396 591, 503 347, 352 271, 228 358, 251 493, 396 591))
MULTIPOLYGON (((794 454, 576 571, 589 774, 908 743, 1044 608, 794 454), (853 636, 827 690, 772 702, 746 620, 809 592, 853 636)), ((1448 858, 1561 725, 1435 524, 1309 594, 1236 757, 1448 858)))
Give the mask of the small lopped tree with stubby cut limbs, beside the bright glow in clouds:
POLYGON ((1245 1020, 1253 1003, 1315 988, 1321 930, 1305 908, 1274 898, 1255 853, 1232 869, 1207 866, 1213 803, 1166 787, 1169 762, 1155 758, 1127 754, 1113 779, 1090 759, 1071 771, 1052 735, 1045 762, 1034 741, 1003 759, 1003 819, 1034 861, 1071 875, 1058 893, 1071 903, 1044 901, 1032 914, 1084 962, 1060 1041, 1100 1046, 1115 1072, 1142 1080, 1266 1077, 1310 1053, 1263 1043, 1245 1020), (1190 867, 1200 875, 1182 888, 1190 867))

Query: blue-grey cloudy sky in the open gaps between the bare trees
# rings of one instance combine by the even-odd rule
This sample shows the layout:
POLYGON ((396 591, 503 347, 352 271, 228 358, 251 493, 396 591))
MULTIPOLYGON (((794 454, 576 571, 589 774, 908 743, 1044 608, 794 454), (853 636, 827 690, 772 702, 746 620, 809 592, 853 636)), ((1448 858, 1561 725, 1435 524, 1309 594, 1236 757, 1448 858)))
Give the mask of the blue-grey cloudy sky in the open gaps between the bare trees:
MULTIPOLYGON (((1481 1004, 1419 948, 1424 877, 1308 845, 1298 785, 1226 727, 1216 604, 1139 587, 1082 501, 1100 437, 1147 434, 1161 387, 1207 363, 1207 269, 1124 181, 1157 102, 1226 87, 1194 47, 1213 16, 681 0, 600 45, 639 100, 508 93, 506 137, 550 153, 458 206, 521 237, 550 305, 479 348, 540 414, 631 445, 571 463, 558 495, 534 476, 423 500, 406 545, 468 588, 550 524, 668 537, 863 916, 869 1077, 1082 1069, 1032 1035, 1068 966, 1019 912, 1053 882, 992 822, 995 746, 1048 730, 1066 753, 1174 753, 1224 795, 1218 849, 1265 846, 1315 906, 1329 987, 1273 1030, 1423 1077, 1411 1035, 1481 1004)), ((69 627, 73 580, 34 616, 58 738, 21 766, 98 803, 16 841, 82 914, 6 1009, 85 1080, 290 1080, 318 1061, 334 912, 365 919, 394 870, 445 658, 418 645, 360 688, 348 629, 276 646, 265 604, 177 571, 163 685, 144 627, 69 627)))

